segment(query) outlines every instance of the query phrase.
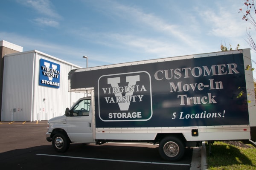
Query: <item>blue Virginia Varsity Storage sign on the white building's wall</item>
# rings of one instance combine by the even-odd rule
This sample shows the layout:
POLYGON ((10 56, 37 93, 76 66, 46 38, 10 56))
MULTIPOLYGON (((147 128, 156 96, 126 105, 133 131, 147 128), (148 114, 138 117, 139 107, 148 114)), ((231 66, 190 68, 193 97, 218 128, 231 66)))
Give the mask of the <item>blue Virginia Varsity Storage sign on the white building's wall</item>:
POLYGON ((39 85, 60 88, 60 68, 59 64, 40 59, 39 85))

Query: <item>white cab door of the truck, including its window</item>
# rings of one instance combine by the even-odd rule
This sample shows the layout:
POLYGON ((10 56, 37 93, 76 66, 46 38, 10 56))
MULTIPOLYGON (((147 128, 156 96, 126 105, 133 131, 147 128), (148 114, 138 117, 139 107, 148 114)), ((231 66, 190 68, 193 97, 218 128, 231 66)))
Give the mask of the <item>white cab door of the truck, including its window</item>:
POLYGON ((93 142, 91 99, 79 100, 70 109, 67 131, 72 142, 93 142))

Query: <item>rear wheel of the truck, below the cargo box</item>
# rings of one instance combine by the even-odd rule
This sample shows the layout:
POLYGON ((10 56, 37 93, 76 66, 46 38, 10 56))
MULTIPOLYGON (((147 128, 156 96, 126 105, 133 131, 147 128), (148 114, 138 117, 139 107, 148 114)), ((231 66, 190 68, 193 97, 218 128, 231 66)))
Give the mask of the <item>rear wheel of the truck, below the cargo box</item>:
POLYGON ((166 161, 178 161, 185 153, 185 144, 176 136, 166 136, 160 141, 159 153, 166 161))

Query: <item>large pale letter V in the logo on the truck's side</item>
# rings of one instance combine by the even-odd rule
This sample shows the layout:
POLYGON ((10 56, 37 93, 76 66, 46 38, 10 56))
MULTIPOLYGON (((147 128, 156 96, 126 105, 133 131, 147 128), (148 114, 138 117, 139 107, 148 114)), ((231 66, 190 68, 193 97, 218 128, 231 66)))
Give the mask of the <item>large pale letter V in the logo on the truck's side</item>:
MULTIPOLYGON (((140 81, 140 76, 127 76, 126 77, 126 82, 128 82, 128 86, 133 86, 136 85, 136 82, 140 81)), ((113 77, 113 78, 108 78, 108 84, 111 85, 112 88, 119 88, 118 83, 120 83, 120 77, 113 77)), ((126 92, 125 96, 132 96, 133 91, 126 92)), ((122 99, 122 93, 115 93, 116 98, 122 99)), ((128 111, 130 107, 131 102, 124 102, 124 103, 118 103, 120 111, 128 111)))

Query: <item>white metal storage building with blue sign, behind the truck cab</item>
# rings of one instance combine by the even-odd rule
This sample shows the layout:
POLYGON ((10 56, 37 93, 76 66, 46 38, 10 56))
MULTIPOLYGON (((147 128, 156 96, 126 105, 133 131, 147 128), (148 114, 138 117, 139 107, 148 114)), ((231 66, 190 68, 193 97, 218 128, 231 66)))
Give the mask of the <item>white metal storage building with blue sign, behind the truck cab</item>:
POLYGON ((85 94, 68 92, 68 73, 81 68, 40 51, 4 56, 2 121, 48 120, 85 94))

